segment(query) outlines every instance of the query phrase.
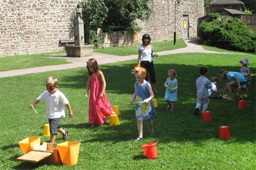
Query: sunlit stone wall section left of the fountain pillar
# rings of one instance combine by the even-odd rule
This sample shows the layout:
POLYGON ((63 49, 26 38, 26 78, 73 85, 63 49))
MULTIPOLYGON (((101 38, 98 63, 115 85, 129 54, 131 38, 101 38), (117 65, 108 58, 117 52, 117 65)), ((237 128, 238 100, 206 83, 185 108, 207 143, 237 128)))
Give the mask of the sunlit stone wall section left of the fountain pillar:
POLYGON ((80 0, 1 0, 0 56, 63 51, 80 0))

